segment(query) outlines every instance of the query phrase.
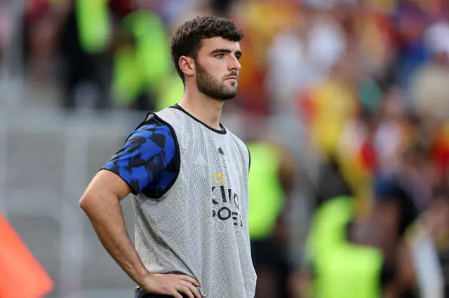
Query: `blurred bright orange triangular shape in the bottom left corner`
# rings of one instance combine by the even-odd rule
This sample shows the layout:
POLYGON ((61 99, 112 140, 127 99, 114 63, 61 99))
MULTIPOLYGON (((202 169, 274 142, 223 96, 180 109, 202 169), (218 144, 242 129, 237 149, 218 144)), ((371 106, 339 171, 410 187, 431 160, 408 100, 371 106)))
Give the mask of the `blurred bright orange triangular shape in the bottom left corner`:
POLYGON ((53 281, 0 214, 0 298, 41 298, 53 281))

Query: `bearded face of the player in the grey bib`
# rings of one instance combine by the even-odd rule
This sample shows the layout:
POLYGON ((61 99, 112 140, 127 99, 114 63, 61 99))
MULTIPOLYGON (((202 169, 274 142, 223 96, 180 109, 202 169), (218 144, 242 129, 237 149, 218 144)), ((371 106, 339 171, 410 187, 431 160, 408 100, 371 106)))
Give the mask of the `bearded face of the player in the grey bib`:
POLYGON ((206 38, 195 60, 199 92, 222 101, 237 95, 241 65, 240 44, 221 37, 206 38))

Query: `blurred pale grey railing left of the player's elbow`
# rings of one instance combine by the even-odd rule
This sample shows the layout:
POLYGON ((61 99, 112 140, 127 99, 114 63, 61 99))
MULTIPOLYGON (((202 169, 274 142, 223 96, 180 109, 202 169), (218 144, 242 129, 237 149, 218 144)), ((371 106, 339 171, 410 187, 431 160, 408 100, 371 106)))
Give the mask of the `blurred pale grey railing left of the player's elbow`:
MULTIPOLYGON (((86 182, 90 179, 87 164, 88 140, 96 136, 103 138, 123 136, 124 138, 130 132, 131 126, 123 125, 123 119, 134 118, 136 123, 139 121, 136 118, 139 115, 126 114, 127 116, 121 117, 111 115, 105 119, 95 118, 90 113, 66 118, 61 111, 38 108, 25 110, 4 108, 0 114, 0 211, 7 218, 15 215, 37 216, 57 222, 60 231, 57 237, 60 241, 58 245, 60 252, 55 257, 59 258, 60 269, 56 279, 60 281, 60 284, 58 284, 58 293, 53 293, 55 297, 82 298, 87 295, 83 294, 82 285, 83 264, 89 255, 83 234, 83 224, 87 224, 87 219, 77 203, 86 187, 86 182), (8 185, 10 180, 8 169, 13 169, 11 157, 13 151, 19 149, 11 148, 9 140, 18 135, 39 136, 39 134, 52 134, 64 143, 64 152, 48 152, 48 154, 63 156, 62 197, 60 193, 46 188, 45 185, 39 185, 37 188, 29 187, 27 184, 19 187, 8 185)), ((25 146, 29 148, 24 150, 27 150, 30 155, 33 154, 33 145, 35 144, 25 141, 25 146)), ((105 152, 110 150, 114 149, 105 148, 105 152)), ((18 166, 27 169, 25 164, 18 166)), ((37 170, 48 174, 45 172, 45 167, 43 164, 43 168, 37 170)), ((58 178, 60 173, 51 173, 51 175, 58 178)), ((27 229, 33 229, 33 227, 27 227, 27 229)), ((39 231, 36 230, 35 233, 39 231)), ((99 291, 96 290, 95 293, 99 291)), ((130 295, 132 291, 132 288, 128 289, 130 295)), ((97 297, 106 297, 106 295, 97 297)))

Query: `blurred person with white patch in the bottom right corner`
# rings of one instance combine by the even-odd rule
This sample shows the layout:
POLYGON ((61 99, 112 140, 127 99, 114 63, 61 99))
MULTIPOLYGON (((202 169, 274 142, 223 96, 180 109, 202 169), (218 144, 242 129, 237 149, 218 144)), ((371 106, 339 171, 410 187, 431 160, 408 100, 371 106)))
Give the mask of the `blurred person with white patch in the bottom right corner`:
POLYGON ((399 287, 410 293, 407 297, 415 297, 414 293, 424 297, 448 296, 447 180, 434 187, 432 197, 430 208, 408 229, 398 249, 399 287))

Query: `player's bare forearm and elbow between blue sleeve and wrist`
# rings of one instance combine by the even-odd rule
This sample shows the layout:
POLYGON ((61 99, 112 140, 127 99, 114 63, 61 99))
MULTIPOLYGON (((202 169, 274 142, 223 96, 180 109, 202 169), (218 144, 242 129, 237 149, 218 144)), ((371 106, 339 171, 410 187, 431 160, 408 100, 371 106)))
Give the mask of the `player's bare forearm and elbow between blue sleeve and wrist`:
POLYGON ((102 170, 93 178, 79 204, 109 255, 135 283, 142 285, 149 272, 130 240, 120 206, 129 192, 130 187, 123 179, 102 170))

